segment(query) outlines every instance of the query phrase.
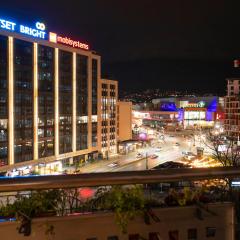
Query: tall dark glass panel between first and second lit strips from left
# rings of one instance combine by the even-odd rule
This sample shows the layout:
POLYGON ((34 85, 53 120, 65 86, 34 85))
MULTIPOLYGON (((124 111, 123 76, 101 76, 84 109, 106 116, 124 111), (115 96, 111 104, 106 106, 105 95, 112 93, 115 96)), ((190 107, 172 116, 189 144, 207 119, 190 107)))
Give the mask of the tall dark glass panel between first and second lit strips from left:
POLYGON ((15 163, 33 159, 33 44, 14 40, 15 163))

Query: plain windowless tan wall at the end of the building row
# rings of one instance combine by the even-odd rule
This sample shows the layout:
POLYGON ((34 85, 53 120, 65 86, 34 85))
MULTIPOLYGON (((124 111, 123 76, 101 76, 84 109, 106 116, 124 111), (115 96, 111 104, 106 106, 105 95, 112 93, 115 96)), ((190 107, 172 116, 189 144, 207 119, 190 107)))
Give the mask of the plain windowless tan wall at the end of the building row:
POLYGON ((118 140, 132 139, 132 103, 118 102, 118 140))

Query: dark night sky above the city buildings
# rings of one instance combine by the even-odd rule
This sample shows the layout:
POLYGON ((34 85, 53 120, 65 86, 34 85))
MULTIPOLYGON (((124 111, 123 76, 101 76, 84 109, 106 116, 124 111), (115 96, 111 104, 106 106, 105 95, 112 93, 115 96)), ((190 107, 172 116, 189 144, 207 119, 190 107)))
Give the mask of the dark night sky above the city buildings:
POLYGON ((102 56, 102 76, 121 89, 224 94, 240 77, 239 0, 42 0, 1 2, 0 16, 43 21, 102 56))

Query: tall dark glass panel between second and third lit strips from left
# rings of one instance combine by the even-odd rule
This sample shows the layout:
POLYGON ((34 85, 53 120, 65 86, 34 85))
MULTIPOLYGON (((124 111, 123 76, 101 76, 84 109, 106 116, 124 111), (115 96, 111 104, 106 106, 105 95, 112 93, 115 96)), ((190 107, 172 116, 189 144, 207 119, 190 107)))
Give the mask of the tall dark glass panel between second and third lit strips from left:
POLYGON ((54 155, 54 49, 38 47, 38 153, 54 155))

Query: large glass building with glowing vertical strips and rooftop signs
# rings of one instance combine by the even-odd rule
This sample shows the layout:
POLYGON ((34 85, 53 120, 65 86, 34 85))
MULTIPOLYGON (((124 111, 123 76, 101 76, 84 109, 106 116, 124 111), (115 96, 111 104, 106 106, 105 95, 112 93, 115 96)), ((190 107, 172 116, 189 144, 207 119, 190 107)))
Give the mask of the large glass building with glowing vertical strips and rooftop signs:
POLYGON ((101 58, 55 35, 42 23, 0 18, 2 167, 87 159, 101 150, 101 58))

